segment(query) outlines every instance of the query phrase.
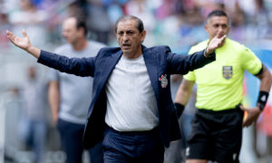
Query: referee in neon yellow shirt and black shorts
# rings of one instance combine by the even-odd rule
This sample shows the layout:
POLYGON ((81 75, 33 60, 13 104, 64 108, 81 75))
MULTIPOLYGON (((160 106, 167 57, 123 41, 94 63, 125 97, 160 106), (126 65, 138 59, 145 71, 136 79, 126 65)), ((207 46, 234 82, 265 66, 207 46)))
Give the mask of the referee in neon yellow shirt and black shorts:
MULTIPOLYGON (((215 34, 228 34, 228 15, 219 10, 211 12, 205 29, 209 40, 191 47, 189 53, 205 48, 215 34)), ((227 38, 216 53, 216 62, 184 76, 175 99, 177 109, 183 110, 194 83, 198 84, 198 110, 186 149, 188 163, 239 162, 242 126, 248 127, 257 120, 270 91, 270 72, 247 47, 227 38), (260 80, 257 106, 253 109, 242 106, 245 70, 260 80), (243 121, 244 111, 247 116, 243 121)))

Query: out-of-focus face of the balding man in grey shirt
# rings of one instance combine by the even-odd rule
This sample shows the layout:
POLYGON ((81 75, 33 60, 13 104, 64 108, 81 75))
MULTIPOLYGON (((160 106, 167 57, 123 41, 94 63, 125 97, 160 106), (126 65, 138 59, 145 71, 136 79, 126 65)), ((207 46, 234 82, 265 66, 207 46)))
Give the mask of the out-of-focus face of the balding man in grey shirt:
POLYGON ((63 37, 67 43, 76 43, 83 36, 81 29, 76 28, 75 18, 68 18, 63 22, 63 37))

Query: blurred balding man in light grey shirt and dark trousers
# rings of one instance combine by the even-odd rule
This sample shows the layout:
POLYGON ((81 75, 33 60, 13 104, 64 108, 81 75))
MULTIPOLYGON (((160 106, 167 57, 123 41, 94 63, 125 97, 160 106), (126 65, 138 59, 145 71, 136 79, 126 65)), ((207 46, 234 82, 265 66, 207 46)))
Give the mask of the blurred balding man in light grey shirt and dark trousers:
MULTIPOLYGON (((78 17, 63 21, 66 43, 55 50, 67 57, 92 57, 105 46, 86 39, 85 22, 78 17)), ((92 101, 92 78, 77 77, 51 69, 49 72, 49 102, 53 123, 61 135, 67 163, 83 162, 83 131, 89 104, 92 101)), ((89 150, 92 163, 102 163, 102 144, 89 150)))

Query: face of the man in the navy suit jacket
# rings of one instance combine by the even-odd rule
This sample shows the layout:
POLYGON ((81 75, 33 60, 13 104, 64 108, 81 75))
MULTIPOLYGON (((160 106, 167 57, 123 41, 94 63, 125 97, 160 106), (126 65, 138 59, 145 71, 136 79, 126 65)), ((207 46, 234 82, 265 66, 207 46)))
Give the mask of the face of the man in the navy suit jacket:
POLYGON ((141 54, 141 42, 145 37, 145 31, 140 31, 136 27, 136 20, 126 20, 117 25, 117 41, 124 55, 134 58, 141 54))

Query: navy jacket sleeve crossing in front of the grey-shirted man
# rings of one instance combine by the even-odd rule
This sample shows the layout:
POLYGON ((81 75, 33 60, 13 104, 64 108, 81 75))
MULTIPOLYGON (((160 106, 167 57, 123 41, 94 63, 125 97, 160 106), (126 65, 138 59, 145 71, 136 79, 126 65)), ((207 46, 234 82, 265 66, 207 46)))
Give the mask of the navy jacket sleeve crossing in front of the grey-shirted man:
POLYGON ((56 53, 41 51, 38 62, 60 72, 93 77, 95 59, 96 57, 68 58, 56 53))

